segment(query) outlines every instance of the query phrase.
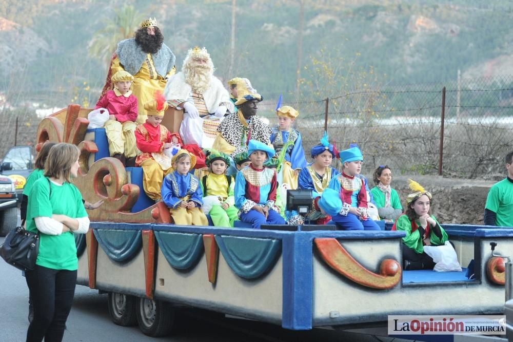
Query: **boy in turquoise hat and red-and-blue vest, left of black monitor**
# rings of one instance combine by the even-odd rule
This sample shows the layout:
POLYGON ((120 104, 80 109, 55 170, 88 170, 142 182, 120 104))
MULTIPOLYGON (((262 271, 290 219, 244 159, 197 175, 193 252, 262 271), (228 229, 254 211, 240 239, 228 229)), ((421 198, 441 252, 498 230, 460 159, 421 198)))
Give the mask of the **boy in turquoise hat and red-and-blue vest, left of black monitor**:
POLYGON ((274 169, 264 166, 274 156, 274 149, 259 141, 250 140, 248 155, 251 163, 240 170, 235 179, 235 206, 241 221, 251 223, 254 229, 262 224, 286 224, 274 205, 277 175, 274 169))

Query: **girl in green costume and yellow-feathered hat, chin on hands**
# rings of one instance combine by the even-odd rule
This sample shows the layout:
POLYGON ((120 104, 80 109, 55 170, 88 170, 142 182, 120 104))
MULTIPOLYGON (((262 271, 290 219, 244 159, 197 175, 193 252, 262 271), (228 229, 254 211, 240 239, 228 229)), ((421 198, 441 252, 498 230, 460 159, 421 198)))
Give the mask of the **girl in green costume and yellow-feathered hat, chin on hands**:
POLYGON ((403 231, 403 269, 432 270, 433 259, 424 252, 424 246, 443 245, 448 240, 442 226, 433 215, 429 215, 431 193, 417 182, 408 179, 411 193, 406 198, 408 208, 392 226, 392 231, 403 231))

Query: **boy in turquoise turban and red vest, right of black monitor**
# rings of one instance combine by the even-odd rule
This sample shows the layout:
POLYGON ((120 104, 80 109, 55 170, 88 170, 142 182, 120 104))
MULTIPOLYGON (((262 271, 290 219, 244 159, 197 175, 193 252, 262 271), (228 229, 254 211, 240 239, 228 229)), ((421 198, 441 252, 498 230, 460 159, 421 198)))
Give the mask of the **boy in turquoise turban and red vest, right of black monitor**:
POLYGON ((344 165, 342 174, 332 178, 328 185, 342 200, 340 215, 332 220, 343 230, 379 231, 380 227, 368 217, 365 183, 358 177, 362 169, 362 151, 358 147, 345 149, 340 153, 340 161, 344 165))

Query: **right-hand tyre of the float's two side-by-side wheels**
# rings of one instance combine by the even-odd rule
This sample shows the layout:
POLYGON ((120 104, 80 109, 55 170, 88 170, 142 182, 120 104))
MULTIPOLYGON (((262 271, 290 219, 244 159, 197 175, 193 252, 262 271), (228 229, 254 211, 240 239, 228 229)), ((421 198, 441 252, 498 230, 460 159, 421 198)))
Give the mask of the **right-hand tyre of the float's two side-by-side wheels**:
POLYGON ((169 335, 174 326, 174 309, 166 302, 137 298, 137 324, 151 337, 169 335))

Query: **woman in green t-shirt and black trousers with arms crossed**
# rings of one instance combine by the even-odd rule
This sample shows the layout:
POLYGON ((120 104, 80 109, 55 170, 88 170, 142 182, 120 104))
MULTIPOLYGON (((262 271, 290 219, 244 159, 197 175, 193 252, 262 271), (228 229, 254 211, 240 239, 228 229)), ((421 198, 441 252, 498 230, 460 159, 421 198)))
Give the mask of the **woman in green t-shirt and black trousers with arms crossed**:
POLYGON ((89 229, 82 195, 71 184, 79 156, 75 145, 52 146, 44 177, 32 184, 28 197, 26 227, 40 235, 40 245, 34 270, 25 272, 34 307, 27 341, 61 341, 64 336, 78 268, 73 234, 89 229))

